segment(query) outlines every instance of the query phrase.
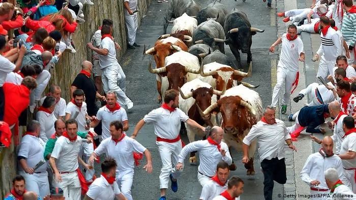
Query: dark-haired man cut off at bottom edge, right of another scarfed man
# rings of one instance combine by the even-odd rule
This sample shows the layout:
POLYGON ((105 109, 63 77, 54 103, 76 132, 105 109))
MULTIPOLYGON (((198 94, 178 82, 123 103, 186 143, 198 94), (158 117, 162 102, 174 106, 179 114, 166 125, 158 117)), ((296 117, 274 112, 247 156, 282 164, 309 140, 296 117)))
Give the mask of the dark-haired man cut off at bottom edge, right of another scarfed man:
POLYGON ((240 195, 244 193, 244 181, 238 176, 232 176, 227 182, 227 189, 223 191, 219 196, 213 198, 213 200, 229 200, 240 199, 240 195))

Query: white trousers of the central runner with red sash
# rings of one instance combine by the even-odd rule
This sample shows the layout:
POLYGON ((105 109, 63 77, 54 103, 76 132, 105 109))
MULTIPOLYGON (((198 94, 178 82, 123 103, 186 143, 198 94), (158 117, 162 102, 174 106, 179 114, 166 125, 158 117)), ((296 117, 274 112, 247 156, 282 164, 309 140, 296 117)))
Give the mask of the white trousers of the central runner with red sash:
POLYGON ((178 163, 178 155, 182 151, 182 142, 156 142, 156 144, 162 160, 160 188, 168 188, 169 174, 172 173, 173 179, 177 179, 183 171, 175 169, 175 165, 178 163))

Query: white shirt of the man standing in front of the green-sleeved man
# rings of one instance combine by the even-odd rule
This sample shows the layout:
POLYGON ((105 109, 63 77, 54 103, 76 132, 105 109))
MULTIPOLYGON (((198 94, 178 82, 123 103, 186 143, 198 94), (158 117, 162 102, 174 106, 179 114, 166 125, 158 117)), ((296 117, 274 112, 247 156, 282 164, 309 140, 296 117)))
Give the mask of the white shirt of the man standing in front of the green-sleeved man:
POLYGON ((81 147, 81 138, 70 142, 61 136, 55 142, 51 157, 56 158, 55 164, 60 172, 74 172, 78 169, 78 155, 81 147))

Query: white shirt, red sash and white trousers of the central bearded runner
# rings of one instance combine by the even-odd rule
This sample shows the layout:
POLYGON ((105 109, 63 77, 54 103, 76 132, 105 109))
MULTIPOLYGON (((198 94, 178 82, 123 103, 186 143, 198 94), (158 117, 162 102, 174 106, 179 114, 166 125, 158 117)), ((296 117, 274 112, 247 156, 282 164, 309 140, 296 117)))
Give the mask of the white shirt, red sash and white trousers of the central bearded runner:
POLYGON ((155 126, 156 144, 162 160, 160 189, 168 188, 170 173, 172 173, 173 179, 176 179, 182 172, 182 170, 175 170, 175 167, 172 168, 172 166, 178 163, 179 153, 182 151, 179 134, 181 122, 186 122, 188 119, 189 117, 182 110, 172 109, 166 104, 151 111, 143 118, 145 123, 154 123, 155 126))

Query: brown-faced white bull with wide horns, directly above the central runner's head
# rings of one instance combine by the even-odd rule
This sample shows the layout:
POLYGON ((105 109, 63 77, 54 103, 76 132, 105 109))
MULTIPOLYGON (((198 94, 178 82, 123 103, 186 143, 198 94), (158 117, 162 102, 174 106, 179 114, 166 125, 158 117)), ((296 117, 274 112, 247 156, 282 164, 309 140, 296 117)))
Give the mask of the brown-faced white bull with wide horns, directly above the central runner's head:
POLYGON ((192 81, 198 77, 200 73, 198 58, 188 52, 179 51, 167 56, 163 68, 152 69, 151 61, 149 71, 152 74, 160 74, 161 78, 161 94, 164 98, 164 92, 168 89, 178 91, 186 82, 192 81))

